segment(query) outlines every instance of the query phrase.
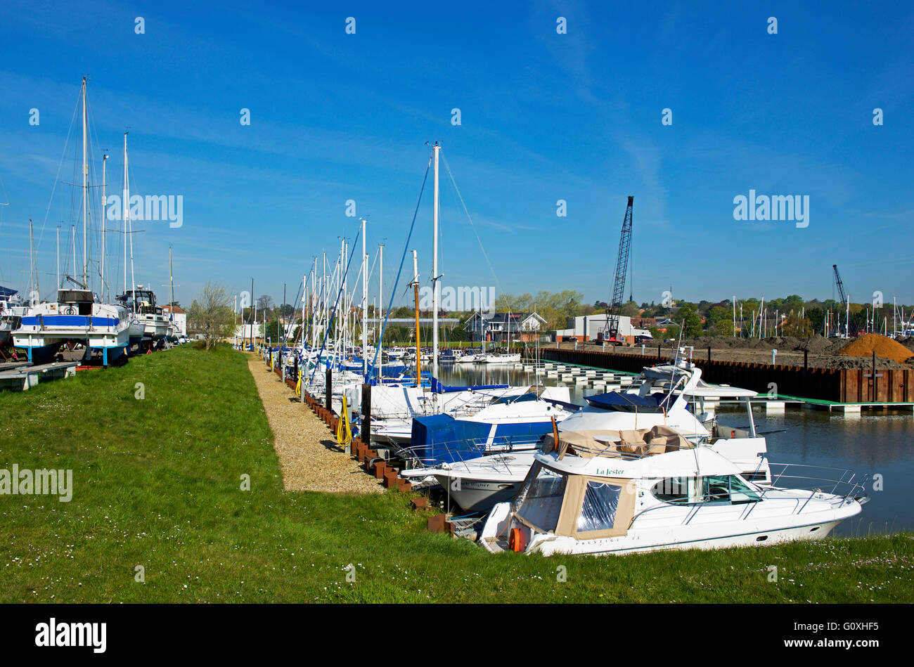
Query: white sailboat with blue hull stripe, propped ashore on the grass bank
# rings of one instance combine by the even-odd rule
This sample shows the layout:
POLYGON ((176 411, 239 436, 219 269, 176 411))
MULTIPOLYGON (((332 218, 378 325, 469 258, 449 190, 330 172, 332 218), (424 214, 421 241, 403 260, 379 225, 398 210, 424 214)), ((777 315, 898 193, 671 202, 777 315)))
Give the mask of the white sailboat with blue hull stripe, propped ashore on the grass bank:
MULTIPOLYGON (((66 276, 72 287, 58 284, 57 301, 31 303, 22 316, 13 342, 25 349, 34 364, 47 363, 60 346, 82 344, 84 359, 101 351, 104 365, 120 357, 130 337, 130 319, 122 305, 103 303, 89 286, 89 128, 86 78, 82 79, 82 280, 66 276)), ((31 236, 31 222, 29 222, 31 236)), ((34 252, 34 249, 33 249, 34 252)), ((74 258, 75 259, 75 258, 74 258)), ((104 284, 104 277, 101 277, 104 284)))

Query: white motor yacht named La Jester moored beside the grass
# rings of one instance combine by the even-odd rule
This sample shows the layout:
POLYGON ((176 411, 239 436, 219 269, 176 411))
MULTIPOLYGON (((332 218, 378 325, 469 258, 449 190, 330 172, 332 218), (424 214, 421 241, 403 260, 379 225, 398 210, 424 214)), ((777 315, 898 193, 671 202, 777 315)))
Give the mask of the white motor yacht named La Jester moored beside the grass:
POLYGON ((866 478, 851 471, 817 476, 824 469, 787 465, 761 486, 678 435, 563 431, 547 440, 514 500, 486 519, 488 551, 603 555, 821 539, 866 502, 866 478), (798 481, 815 488, 786 486, 798 481))

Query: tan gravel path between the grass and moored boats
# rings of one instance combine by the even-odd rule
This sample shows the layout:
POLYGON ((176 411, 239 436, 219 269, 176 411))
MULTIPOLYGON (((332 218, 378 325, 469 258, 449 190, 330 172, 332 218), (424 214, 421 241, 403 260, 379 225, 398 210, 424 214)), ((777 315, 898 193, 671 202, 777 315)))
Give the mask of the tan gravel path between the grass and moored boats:
POLYGON ((260 394, 280 457, 286 491, 377 493, 384 487, 362 471, 331 437, 314 412, 257 355, 248 355, 250 375, 260 394), (293 400, 294 399, 294 400, 293 400))

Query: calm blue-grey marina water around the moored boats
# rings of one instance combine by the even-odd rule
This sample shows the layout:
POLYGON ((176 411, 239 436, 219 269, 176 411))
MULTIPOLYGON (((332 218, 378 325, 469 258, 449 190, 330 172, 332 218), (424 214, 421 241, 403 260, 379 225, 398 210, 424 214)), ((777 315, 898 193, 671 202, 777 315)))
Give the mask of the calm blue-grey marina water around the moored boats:
MULTIPOLYGON (((513 367, 494 365, 442 365, 445 384, 534 384, 537 377, 513 367)), ((568 386, 571 400, 583 405, 584 394, 593 388, 579 389, 557 383, 555 378, 538 378, 540 384, 568 386)), ((853 521, 840 524, 836 535, 914 530, 914 415, 911 412, 875 411, 859 416, 844 416, 825 410, 787 408, 777 416, 766 416, 763 408, 754 411, 758 429, 787 429, 767 436, 772 462, 850 468, 858 475, 882 475, 882 491, 867 485, 870 502, 853 521)), ((745 411, 725 406, 717 410, 717 420, 727 426, 746 423, 745 411)))

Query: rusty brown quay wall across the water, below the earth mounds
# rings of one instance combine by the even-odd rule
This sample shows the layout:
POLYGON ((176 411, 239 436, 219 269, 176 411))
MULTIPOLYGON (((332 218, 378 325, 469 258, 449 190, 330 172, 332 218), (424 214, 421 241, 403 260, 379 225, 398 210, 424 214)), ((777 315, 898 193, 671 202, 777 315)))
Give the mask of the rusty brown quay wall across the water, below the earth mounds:
MULTIPOLYGON (((611 352, 540 348, 540 359, 558 364, 641 373, 647 365, 673 361, 670 355, 620 355, 611 352)), ((804 368, 802 365, 749 364, 739 361, 693 358, 702 378, 717 385, 742 386, 760 394, 816 398, 834 403, 914 402, 914 371, 877 369, 876 388, 871 369, 804 368), (772 386, 773 385, 773 386, 772 386)))

